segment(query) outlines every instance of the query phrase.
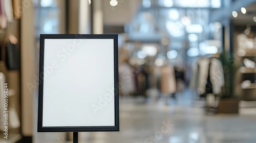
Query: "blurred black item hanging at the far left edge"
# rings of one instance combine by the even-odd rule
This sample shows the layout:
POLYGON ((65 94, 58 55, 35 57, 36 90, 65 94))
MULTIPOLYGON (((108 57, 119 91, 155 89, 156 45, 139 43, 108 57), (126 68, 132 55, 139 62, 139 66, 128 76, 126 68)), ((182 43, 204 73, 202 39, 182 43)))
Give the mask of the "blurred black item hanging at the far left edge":
POLYGON ((18 51, 15 44, 8 43, 6 47, 6 66, 9 70, 18 69, 18 51))

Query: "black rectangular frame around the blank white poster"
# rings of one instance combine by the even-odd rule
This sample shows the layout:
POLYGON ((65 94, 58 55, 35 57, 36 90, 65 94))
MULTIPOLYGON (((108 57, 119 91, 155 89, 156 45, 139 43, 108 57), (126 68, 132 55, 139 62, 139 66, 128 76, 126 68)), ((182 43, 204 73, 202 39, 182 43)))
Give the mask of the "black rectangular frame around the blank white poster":
POLYGON ((119 89, 118 89, 118 35, 117 34, 41 34, 39 58, 39 94, 37 132, 95 132, 119 131, 119 89), (114 39, 114 109, 115 126, 66 126, 43 127, 43 98, 44 98, 44 58, 45 39, 114 39))

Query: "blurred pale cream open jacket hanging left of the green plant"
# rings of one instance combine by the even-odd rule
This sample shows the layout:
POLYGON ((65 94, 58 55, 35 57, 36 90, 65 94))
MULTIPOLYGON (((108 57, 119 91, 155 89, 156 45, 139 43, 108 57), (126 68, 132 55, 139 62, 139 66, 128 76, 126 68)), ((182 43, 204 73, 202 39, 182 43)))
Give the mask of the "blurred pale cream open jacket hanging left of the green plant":
POLYGON ((199 61, 198 92, 199 94, 204 94, 206 92, 207 77, 209 75, 212 92, 214 94, 220 94, 221 87, 224 85, 222 64, 217 58, 211 58, 211 64, 209 67, 209 60, 210 58, 205 58, 199 61))

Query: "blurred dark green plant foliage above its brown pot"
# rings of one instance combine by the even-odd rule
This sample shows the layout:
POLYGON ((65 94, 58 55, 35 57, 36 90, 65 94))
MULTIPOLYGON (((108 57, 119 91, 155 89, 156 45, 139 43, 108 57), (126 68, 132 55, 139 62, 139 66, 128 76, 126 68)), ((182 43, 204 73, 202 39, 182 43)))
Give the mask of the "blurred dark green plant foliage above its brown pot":
POLYGON ((221 98, 238 98, 234 93, 237 82, 237 71, 240 65, 236 63, 236 56, 230 55, 228 52, 222 52, 219 57, 224 72, 224 87, 222 89, 221 98))

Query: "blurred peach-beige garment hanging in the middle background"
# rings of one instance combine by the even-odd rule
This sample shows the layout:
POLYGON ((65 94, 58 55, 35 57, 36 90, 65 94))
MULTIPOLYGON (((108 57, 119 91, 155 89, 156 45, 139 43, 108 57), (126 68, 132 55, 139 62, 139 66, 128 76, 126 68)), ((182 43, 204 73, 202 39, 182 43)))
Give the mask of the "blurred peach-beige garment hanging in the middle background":
POLYGON ((176 92, 176 80, 174 68, 170 65, 165 65, 161 70, 161 92, 164 94, 176 92))

